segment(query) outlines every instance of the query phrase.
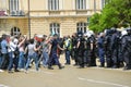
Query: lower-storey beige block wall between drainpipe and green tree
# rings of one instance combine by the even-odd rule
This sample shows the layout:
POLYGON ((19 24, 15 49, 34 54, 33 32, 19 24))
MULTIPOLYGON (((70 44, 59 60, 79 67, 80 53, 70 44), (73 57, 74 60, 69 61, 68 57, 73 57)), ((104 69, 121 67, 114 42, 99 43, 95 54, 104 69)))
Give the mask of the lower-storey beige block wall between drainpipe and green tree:
POLYGON ((46 34, 50 35, 50 27, 51 23, 59 23, 60 24, 60 36, 68 36, 76 33, 76 23, 84 22, 86 23, 87 17, 35 17, 32 18, 32 37, 34 34, 46 34))

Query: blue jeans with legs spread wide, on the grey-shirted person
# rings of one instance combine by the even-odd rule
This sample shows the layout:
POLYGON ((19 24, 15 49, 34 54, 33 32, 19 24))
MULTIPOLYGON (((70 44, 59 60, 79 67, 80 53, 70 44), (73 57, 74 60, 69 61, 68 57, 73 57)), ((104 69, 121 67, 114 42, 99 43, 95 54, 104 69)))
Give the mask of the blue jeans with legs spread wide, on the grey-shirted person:
POLYGON ((38 54, 37 54, 37 53, 28 54, 25 70, 26 70, 26 71, 28 70, 28 66, 29 66, 29 64, 31 64, 31 60, 32 60, 32 59, 35 61, 36 71, 38 71, 38 54))

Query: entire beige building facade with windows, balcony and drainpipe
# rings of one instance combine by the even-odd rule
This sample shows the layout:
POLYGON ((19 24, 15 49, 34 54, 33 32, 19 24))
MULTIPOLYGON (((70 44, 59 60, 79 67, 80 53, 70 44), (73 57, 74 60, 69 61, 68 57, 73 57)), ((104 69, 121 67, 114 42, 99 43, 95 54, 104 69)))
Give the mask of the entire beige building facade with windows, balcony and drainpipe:
POLYGON ((0 0, 0 34, 72 35, 86 32, 105 0, 0 0))

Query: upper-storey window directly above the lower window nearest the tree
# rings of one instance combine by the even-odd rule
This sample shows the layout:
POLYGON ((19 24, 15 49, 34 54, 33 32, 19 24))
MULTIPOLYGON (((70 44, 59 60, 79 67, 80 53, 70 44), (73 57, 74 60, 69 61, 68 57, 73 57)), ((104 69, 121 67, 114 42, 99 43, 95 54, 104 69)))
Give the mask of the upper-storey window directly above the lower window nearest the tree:
POLYGON ((86 0, 75 0, 76 10, 86 10, 86 0))

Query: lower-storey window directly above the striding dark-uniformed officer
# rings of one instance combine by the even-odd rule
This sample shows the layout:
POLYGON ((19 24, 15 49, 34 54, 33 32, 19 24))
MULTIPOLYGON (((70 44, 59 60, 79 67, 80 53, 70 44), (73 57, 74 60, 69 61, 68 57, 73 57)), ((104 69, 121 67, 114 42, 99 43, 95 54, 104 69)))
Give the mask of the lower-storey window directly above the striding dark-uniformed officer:
POLYGON ((60 24, 58 24, 58 23, 51 23, 50 24, 50 34, 51 35, 53 35, 53 34, 60 35, 60 24))

